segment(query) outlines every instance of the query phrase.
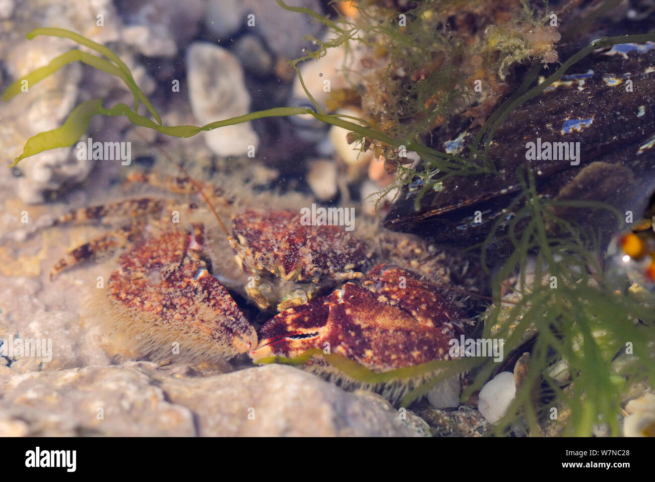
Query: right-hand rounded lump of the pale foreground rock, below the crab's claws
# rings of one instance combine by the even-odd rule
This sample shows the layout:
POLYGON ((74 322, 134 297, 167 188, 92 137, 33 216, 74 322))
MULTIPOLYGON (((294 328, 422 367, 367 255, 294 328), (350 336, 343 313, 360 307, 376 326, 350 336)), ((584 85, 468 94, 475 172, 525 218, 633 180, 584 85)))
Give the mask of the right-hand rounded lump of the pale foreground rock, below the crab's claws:
POLYGON ((170 401, 194 412, 201 436, 422 435, 381 397, 344 392, 283 365, 170 378, 161 387, 170 401))

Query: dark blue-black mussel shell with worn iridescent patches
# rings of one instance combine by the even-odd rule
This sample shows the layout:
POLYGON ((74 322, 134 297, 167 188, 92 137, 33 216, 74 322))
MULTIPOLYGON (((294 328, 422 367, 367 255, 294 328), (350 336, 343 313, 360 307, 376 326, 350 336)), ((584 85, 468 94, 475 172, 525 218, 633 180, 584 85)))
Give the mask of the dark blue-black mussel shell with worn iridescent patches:
MULTIPOLYGON (((464 136, 462 156, 468 155, 467 146, 475 136, 476 131, 464 136)), ((449 178, 440 190, 425 193, 418 211, 415 201, 421 186, 404 186, 384 226, 421 233, 438 243, 479 243, 498 218, 512 218, 507 207, 521 190, 520 168, 534 172, 540 195, 603 201, 622 212, 633 211, 638 218, 655 191, 654 136, 655 43, 598 49, 500 126, 489 150, 498 174, 449 178), (631 91, 626 89, 628 80, 631 91), (579 165, 570 160, 527 160, 526 144, 538 138, 542 143, 580 142, 579 165), (476 211, 483 222, 475 222, 476 211)), ((436 147, 452 150, 453 142, 436 147)), ((616 230, 616 218, 605 211, 558 211, 567 219, 601 228, 605 239, 616 230)))

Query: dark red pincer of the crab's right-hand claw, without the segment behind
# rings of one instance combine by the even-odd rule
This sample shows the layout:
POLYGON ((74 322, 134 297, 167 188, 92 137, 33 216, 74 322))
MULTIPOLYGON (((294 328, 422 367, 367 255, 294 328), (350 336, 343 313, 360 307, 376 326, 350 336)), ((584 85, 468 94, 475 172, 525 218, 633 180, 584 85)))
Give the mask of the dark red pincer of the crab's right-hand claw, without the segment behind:
POLYGON ((383 372, 447 359, 449 340, 457 334, 453 325, 423 325, 402 308, 346 283, 264 323, 250 356, 255 361, 271 355, 295 358, 319 348, 383 372))

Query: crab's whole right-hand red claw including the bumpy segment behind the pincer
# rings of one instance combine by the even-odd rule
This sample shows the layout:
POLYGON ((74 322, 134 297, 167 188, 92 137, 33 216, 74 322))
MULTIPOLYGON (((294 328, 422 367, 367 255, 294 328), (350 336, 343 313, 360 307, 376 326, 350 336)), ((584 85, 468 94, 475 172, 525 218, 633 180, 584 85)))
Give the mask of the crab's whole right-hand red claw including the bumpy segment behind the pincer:
POLYGON ((455 302, 440 291, 432 294, 434 285, 411 271, 380 268, 379 273, 382 281, 372 290, 346 283, 276 315, 259 330, 251 357, 294 358, 310 348, 329 348, 377 372, 448 359, 449 340, 463 332, 455 302), (406 287, 384 290, 396 283, 396 275, 406 277, 406 287))

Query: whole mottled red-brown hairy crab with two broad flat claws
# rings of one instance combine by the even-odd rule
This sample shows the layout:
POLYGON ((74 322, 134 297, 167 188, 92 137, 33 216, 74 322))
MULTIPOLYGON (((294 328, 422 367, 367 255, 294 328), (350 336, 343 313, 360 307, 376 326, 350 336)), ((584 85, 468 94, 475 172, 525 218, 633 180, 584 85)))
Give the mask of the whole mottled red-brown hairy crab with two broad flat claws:
MULTIPOLYGON (((108 212, 152 216, 163 202, 84 208, 62 222, 108 212)), ((240 353, 255 361, 269 355, 294 358, 329 346, 329 353, 385 372, 448 359, 449 340, 463 332, 466 315, 457 294, 417 272, 431 271, 448 282, 450 274, 457 277, 457 268, 413 235, 390 233, 374 244, 340 226, 305 226, 298 212, 289 210, 248 209, 233 216, 232 226, 229 245, 249 275, 245 294, 263 313, 271 306, 280 311, 258 332, 219 281, 226 273, 221 260, 212 262, 208 254, 211 243, 202 223, 185 229, 171 228, 170 222, 156 229, 128 223, 69 252, 52 275, 99 251, 124 249, 97 303, 108 315, 109 334, 129 347, 128 355, 162 362, 200 363, 240 353), (384 243, 385 260, 413 260, 405 266, 419 269, 379 264, 384 243)), ((468 261, 462 266, 470 270, 468 261)), ((334 374, 316 357, 306 366, 334 374)))

